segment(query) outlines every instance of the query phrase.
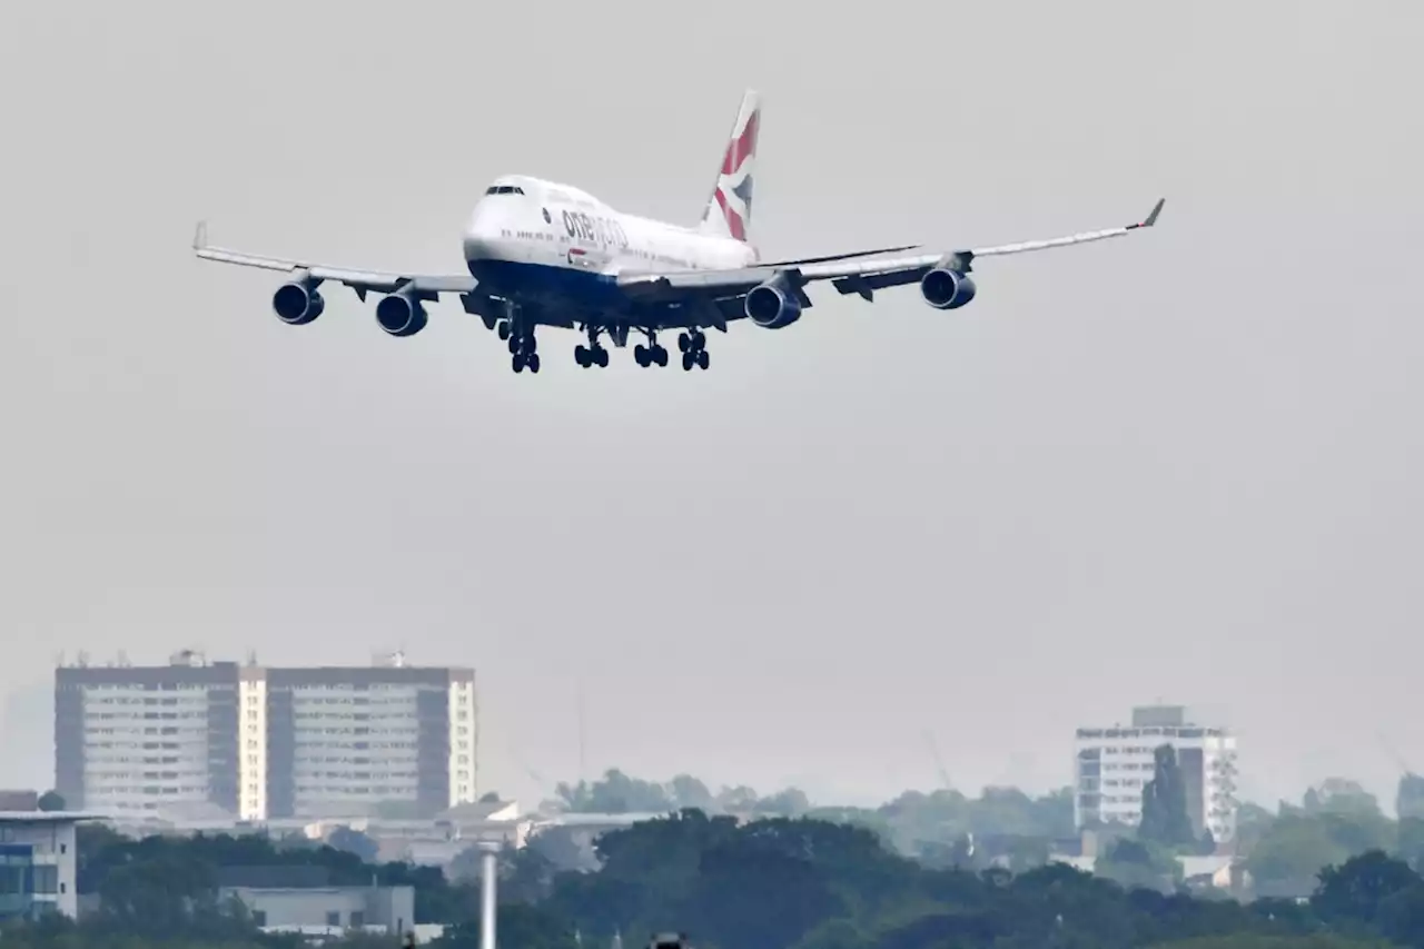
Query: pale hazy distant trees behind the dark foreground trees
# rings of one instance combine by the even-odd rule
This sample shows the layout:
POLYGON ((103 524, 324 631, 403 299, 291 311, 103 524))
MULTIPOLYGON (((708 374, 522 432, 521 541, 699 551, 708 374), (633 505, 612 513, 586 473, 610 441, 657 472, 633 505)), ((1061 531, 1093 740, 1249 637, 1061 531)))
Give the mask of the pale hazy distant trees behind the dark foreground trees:
MULTIPOLYGON (((1152 878, 1171 878, 1176 873, 1175 856, 1210 854, 1216 845, 1188 828, 1175 755, 1159 755, 1151 788, 1155 791, 1143 812, 1146 826, 1095 828, 1104 856, 1099 869, 1122 882, 1143 879, 1138 871, 1143 862, 1153 868, 1152 878)), ((1386 816, 1378 799, 1357 782, 1329 778, 1307 789, 1299 802, 1282 801, 1273 809, 1243 805, 1230 842, 1246 869, 1247 886, 1237 895, 1306 895, 1321 868, 1371 849, 1424 866, 1424 777, 1404 775, 1394 804, 1398 819, 1386 816)), ((906 791, 877 808, 853 808, 817 805, 796 788, 760 797, 748 787, 712 791, 691 775, 658 782, 611 769, 600 781, 558 785, 557 797, 544 807, 609 814, 696 808, 750 818, 820 818, 871 829, 896 852, 937 868, 1005 866, 1022 872, 1047 864, 1054 854, 1074 852, 1079 839, 1069 788, 1044 795, 985 788, 978 797, 953 789, 906 791)), ((551 839, 548 846, 558 851, 554 856, 561 866, 595 865, 591 852, 575 855, 565 841, 551 839)))

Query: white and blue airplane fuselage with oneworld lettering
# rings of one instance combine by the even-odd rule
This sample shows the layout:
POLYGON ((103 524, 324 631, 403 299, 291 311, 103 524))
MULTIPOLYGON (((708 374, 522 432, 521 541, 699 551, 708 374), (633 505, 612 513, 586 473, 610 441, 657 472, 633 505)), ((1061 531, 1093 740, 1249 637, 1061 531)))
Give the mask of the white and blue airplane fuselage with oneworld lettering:
POLYGON ((750 266, 758 252, 742 241, 622 214, 570 185, 507 175, 476 204, 464 258, 480 279, 581 295, 619 274, 750 266))

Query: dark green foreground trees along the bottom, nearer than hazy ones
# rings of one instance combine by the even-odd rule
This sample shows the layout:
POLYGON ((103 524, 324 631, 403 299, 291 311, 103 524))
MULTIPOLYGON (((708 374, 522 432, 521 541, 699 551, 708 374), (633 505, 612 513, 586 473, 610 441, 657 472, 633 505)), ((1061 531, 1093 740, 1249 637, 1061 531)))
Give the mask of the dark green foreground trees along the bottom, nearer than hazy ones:
MULTIPOLYGON (((608 946, 621 933, 684 930, 699 949, 1424 949, 1424 879, 1368 852, 1317 879, 1304 902, 1200 899, 1129 889, 1065 865, 1024 873, 931 868, 889 849, 871 831, 809 818, 739 822, 686 811, 602 835, 600 869, 560 872, 534 848, 501 866, 506 949, 608 946)), ((440 949, 478 945, 471 883, 439 872, 363 864, 335 848, 265 838, 122 841, 85 832, 87 881, 105 898, 80 925, 10 926, 16 949, 256 949, 293 946, 262 936, 214 881, 225 866, 306 864, 333 879, 409 882, 417 922, 446 923, 440 949), (110 902, 110 901, 114 902, 110 902)), ((394 939, 346 940, 392 946, 394 939)))

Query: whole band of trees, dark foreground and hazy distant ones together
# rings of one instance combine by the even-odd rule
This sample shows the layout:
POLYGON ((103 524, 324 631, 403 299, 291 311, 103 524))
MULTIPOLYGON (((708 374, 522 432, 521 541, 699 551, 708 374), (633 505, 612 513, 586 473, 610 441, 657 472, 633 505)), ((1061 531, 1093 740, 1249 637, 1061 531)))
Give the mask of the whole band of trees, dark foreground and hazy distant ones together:
MULTIPOLYGON (((669 812, 631 828, 548 828, 506 849, 500 945, 628 949, 644 935, 684 930, 699 949, 1424 949, 1424 818, 1396 824, 1349 781, 1326 781, 1279 815, 1245 808, 1239 842, 1257 896, 1314 892, 1309 903, 1198 899, 1175 854, 1199 846, 1186 822, 1180 774, 1158 757, 1142 826, 1105 828, 1095 873, 1048 864, 1074 834, 1067 791, 1030 797, 990 788, 906 792, 880 808, 816 808, 799 791, 769 798, 745 787, 711 791, 688 775, 666 784, 611 771, 564 785, 565 807, 669 812), (1173 788, 1173 784, 1176 788, 1173 788), (705 808, 679 807, 701 801, 705 808), (1183 831, 1182 825, 1186 824, 1183 831), (1413 866, 1411 866, 1413 862, 1413 866)), ((1403 794, 1403 789, 1401 789, 1403 794)), ((266 836, 131 841, 81 826, 81 892, 103 909, 83 926, 11 926, 17 949, 295 949, 266 938, 241 906, 222 905, 226 868, 319 866, 335 885, 409 883, 416 919, 450 926, 440 945, 478 942, 478 861, 461 855, 449 879, 433 868, 375 864, 375 844, 336 832, 328 845, 266 836)), ((360 938, 329 949, 375 949, 360 938)))

